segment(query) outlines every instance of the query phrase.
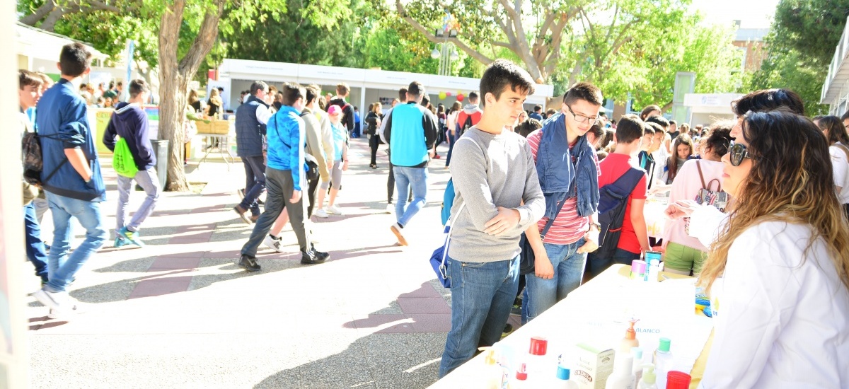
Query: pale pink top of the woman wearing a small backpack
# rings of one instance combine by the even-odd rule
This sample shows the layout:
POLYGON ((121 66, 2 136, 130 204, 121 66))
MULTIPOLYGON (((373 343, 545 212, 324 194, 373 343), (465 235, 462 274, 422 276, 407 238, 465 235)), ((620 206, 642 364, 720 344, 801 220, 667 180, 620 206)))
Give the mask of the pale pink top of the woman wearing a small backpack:
MULTIPOLYGON (((696 163, 701 166, 701 173, 705 177, 705 184, 710 184, 711 190, 721 189, 722 162, 708 160, 686 161, 678 170, 675 180, 672 181, 669 204, 673 204, 678 200, 695 200, 695 196, 699 194, 702 183, 696 163), (712 180, 717 181, 711 183, 712 180)), ((689 236, 684 231, 683 217, 676 220, 666 220, 666 226, 663 228, 663 241, 686 245, 699 251, 707 251, 705 245, 702 245, 698 239, 689 236)))

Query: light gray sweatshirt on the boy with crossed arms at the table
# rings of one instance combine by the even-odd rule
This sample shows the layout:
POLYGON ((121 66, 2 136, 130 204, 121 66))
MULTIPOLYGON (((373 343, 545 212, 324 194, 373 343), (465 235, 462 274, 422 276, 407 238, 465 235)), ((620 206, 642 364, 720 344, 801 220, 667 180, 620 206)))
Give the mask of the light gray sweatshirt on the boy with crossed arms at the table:
POLYGON ((461 262, 506 261, 519 255, 520 234, 545 212, 527 140, 507 130, 493 135, 471 127, 454 144, 451 176, 456 196, 448 255, 461 262), (498 206, 519 211, 519 224, 501 236, 486 234, 484 225, 498 215, 498 206))

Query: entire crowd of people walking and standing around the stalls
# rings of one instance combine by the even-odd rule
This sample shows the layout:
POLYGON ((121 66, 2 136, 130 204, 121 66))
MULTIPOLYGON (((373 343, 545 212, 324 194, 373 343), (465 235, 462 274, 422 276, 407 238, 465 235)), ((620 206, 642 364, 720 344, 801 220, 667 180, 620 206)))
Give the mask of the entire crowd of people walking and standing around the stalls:
MULTIPOLYGON (((35 73, 19 74, 21 134, 37 131, 43 154, 39 187, 24 185, 27 255, 43 281, 33 296, 51 317, 76 313, 67 290, 108 236, 99 207, 104 181, 78 92, 90 59, 82 45, 65 46, 62 78, 52 87, 35 73), (39 194, 43 200, 33 200, 39 194), (49 254, 39 236, 38 201, 53 214, 49 254), (86 228, 73 251, 71 217, 86 228)), ((735 100, 736 121, 690 130, 650 105, 614 122, 599 114, 602 91, 587 82, 543 116, 540 106, 523 109, 534 85, 525 70, 499 59, 464 107, 434 107, 424 85, 412 82, 389 110, 373 104, 364 118, 372 168, 378 145, 388 144, 387 211, 396 215, 388 229, 398 245, 408 245, 405 228, 424 206, 436 144, 442 137, 449 143, 453 200, 444 206, 453 236, 452 329, 440 376, 502 337, 517 296, 526 323, 610 264, 630 264, 654 250, 664 252, 666 270, 693 274, 708 288, 722 285, 713 289, 722 307, 704 387, 849 383, 849 119, 808 119, 796 93, 771 89, 735 100), (623 185, 621 228, 601 234, 614 222, 601 217, 599 202, 623 185), (664 234, 649 237, 646 200, 666 192, 664 234), (524 275, 523 239, 535 257, 524 275)), ((309 219, 342 213, 336 196, 350 138, 359 135, 352 128, 357 110, 346 102, 350 88, 340 83, 333 97, 315 85, 287 82, 277 91, 254 82, 248 92, 236 112, 246 182, 234 211, 254 228, 237 263, 261 270, 259 245, 282 251, 285 223, 301 263, 325 262, 329 253, 316 249, 309 219)), ((138 167, 119 178, 115 246, 143 245, 138 229, 160 193, 141 110, 149 87, 133 80, 128 95, 102 140, 110 149, 126 142, 138 167), (127 220, 133 180, 147 197, 127 220)))

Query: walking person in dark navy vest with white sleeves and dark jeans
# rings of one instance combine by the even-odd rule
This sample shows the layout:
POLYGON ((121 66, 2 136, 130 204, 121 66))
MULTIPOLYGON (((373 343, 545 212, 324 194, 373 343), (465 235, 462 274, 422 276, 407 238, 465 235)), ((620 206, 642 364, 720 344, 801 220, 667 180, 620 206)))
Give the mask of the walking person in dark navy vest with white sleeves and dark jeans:
POLYGON ((271 117, 264 99, 268 93, 265 82, 250 84, 250 97, 236 110, 236 154, 245 165, 245 192, 242 201, 233 207, 245 223, 256 223, 260 206, 256 202, 266 190, 266 164, 263 157, 263 138, 266 123, 271 117), (246 214, 250 210, 250 217, 246 214))

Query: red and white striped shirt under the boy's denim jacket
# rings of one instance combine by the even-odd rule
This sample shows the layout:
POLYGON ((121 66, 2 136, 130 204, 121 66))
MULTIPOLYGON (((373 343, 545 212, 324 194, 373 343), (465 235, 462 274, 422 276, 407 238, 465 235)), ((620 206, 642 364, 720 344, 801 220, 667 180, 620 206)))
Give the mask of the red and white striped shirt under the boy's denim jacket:
MULTIPOLYGON (((538 130, 528 135, 528 145, 531 146, 531 154, 533 155, 534 162, 537 161, 537 151, 539 150, 539 143, 542 138, 543 132, 538 130)), ((595 170, 600 173, 599 159, 595 153, 592 156, 595 161, 595 170)), ((540 232, 543 232, 546 223, 548 223, 548 217, 543 217, 537 222, 540 232)), ((548 228, 548 234, 545 234, 543 242, 551 245, 571 245, 580 240, 587 231, 589 231, 589 217, 578 215, 578 199, 577 197, 572 197, 566 199, 563 208, 560 209, 560 213, 554 218, 551 228, 548 228)))

